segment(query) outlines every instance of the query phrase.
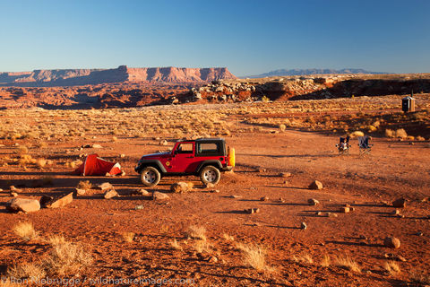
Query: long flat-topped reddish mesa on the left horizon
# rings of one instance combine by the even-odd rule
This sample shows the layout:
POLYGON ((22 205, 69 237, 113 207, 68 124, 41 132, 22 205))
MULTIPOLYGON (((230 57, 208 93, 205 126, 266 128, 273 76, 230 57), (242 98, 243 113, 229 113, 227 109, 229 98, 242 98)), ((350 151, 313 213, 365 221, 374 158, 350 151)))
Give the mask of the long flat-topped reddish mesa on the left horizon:
POLYGON ((236 79, 227 67, 179 68, 152 67, 129 68, 120 65, 116 69, 61 69, 34 70, 33 72, 0 73, 2 86, 75 86, 99 83, 196 83, 224 79, 236 79))

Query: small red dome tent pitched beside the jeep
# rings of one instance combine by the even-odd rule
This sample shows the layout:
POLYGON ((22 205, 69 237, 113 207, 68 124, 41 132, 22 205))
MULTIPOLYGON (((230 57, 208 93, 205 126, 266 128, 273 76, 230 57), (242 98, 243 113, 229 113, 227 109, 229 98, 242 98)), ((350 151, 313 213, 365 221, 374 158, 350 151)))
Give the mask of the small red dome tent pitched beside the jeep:
POLYGON ((121 170, 118 162, 106 161, 99 158, 98 154, 90 154, 73 173, 82 176, 105 176, 108 173, 116 176, 122 172, 123 170, 121 170))

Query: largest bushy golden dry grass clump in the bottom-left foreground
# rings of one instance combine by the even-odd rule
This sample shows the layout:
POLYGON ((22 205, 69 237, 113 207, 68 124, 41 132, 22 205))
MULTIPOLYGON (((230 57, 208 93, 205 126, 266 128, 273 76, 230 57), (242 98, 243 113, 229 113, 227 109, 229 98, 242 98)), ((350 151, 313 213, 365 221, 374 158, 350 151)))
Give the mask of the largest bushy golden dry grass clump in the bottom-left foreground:
POLYGON ((53 245, 43 265, 47 274, 64 275, 76 274, 91 263, 92 257, 82 244, 64 241, 53 245))

